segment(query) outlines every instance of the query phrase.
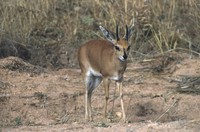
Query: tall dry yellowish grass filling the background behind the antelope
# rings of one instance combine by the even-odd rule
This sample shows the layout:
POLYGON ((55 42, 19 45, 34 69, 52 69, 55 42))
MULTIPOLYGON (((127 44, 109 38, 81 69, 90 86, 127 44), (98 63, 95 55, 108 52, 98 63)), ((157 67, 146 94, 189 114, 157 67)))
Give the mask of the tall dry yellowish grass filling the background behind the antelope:
POLYGON ((0 3, 2 41, 24 46, 77 47, 101 36, 98 25, 114 31, 119 24, 123 34, 124 26, 130 26, 135 18, 133 54, 164 54, 180 47, 200 52, 198 0, 0 0, 0 3))

